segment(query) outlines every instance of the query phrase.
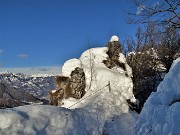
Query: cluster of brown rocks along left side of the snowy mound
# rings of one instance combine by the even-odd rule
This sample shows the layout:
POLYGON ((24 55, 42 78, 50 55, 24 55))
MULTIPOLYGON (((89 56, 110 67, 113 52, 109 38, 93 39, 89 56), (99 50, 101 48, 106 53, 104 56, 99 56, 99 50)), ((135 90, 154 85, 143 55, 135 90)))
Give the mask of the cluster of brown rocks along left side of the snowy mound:
POLYGON ((84 96, 86 88, 85 74, 82 68, 76 67, 69 77, 57 76, 57 90, 49 91, 50 105, 61 106, 62 100, 69 97, 80 99, 84 96))

